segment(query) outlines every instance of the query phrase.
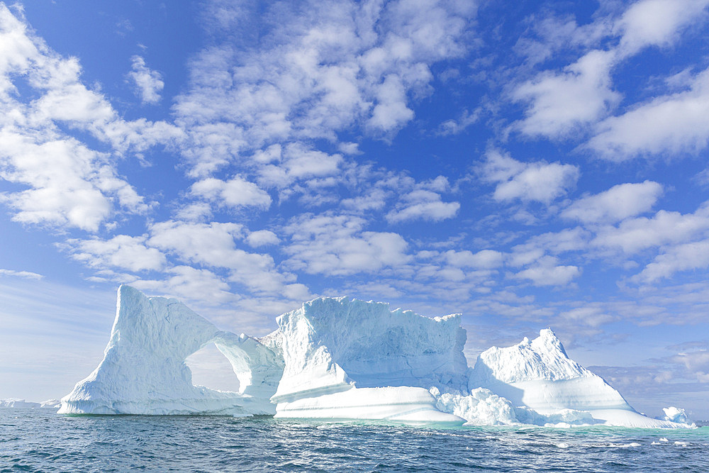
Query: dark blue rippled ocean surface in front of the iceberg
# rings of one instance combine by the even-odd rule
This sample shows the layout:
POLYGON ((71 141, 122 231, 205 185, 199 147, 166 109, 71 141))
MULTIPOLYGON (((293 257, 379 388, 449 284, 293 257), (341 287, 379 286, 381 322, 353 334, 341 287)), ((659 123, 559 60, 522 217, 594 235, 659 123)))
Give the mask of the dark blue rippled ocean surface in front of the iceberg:
POLYGON ((709 427, 421 428, 0 409, 0 472, 708 472, 709 427))

